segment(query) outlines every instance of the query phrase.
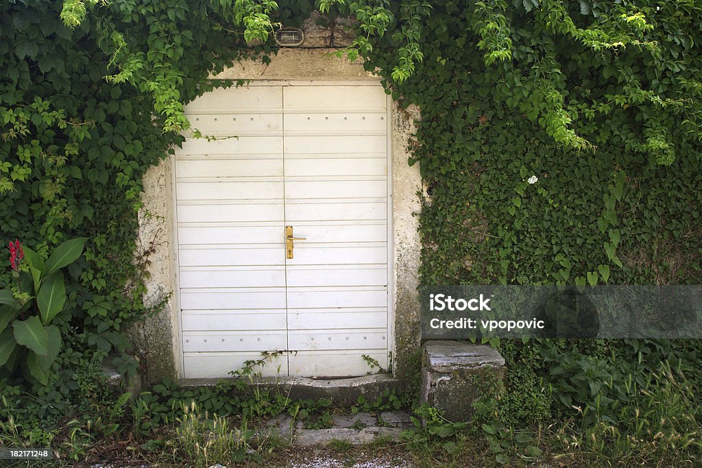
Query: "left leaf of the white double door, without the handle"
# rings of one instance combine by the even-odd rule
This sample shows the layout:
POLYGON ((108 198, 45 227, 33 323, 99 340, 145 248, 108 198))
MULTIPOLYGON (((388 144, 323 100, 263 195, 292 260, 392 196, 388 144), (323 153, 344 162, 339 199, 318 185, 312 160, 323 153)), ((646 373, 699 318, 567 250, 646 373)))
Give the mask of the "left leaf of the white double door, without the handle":
MULTIPOLYGON (((219 89, 185 109, 176 152, 184 374, 226 377, 287 349, 281 86, 219 89)), ((259 369, 257 369, 258 371, 259 369)), ((287 374, 287 356, 260 368, 287 374)))

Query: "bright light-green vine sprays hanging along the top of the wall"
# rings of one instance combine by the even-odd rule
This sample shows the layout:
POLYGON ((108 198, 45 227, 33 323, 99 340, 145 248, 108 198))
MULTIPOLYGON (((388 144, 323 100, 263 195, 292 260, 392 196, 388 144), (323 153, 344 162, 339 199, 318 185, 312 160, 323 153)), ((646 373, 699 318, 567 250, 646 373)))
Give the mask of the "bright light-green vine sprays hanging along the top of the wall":
MULTIPOLYGON (((112 44, 107 47, 112 53, 110 65, 120 69, 110 79, 130 81, 143 93, 150 93, 155 110, 165 116, 164 130, 177 132, 190 128, 178 93, 179 87, 183 86, 183 74, 174 57, 180 53, 178 46, 183 41, 178 20, 183 20, 183 13, 188 10, 187 3, 185 0, 161 6, 151 2, 141 6, 136 2, 117 3, 122 11, 132 15, 152 15, 146 41, 149 51, 146 53, 143 41, 137 39, 140 36, 130 34, 128 37, 134 40, 127 41, 117 31, 124 23, 119 18, 105 15, 105 8, 98 7, 97 0, 65 1, 62 18, 70 27, 77 27, 86 19, 86 9, 92 8, 102 25, 98 28, 100 43, 112 44), (159 11, 162 13, 154 14, 159 11)), ((300 2, 294 3, 299 7, 300 2)), ((302 3, 305 4, 303 11, 315 7, 321 13, 351 15, 357 20, 357 39, 340 54, 346 53, 350 60, 359 55, 368 58, 376 52, 374 44, 383 44, 395 55, 389 76, 394 83, 402 85, 416 74, 417 64, 425 55, 420 39, 423 38, 423 22, 431 15, 432 3, 420 0, 404 0, 399 4, 383 0, 302 3), (385 35, 387 31, 392 34, 385 35), (388 36, 390 39, 385 39, 388 36)), ((676 103, 677 109, 670 109, 670 112, 684 114, 686 118, 682 119, 682 126, 687 131, 687 138, 702 138, 699 102, 681 99, 683 88, 699 82, 698 59, 694 54, 696 42, 684 29, 691 18, 700 13, 695 4, 683 3, 675 8, 668 2, 651 0, 633 3, 515 0, 511 5, 505 0, 497 0, 475 1, 465 6, 453 1, 437 1, 435 4, 455 10, 466 18, 468 29, 479 37, 473 47, 484 52, 484 65, 489 74, 496 75, 494 97, 537 121, 559 145, 588 152, 596 149, 594 143, 574 129, 576 124, 570 109, 574 97, 569 95, 564 81, 567 72, 562 69, 563 51, 564 55, 588 58, 595 66, 609 62, 609 69, 603 69, 602 74, 616 78, 616 83, 608 80, 606 84, 609 86, 602 89, 613 87, 622 92, 609 93, 609 96, 581 95, 576 105, 586 105, 593 110, 610 106, 612 102, 625 108, 636 107, 649 132, 643 142, 633 145, 653 156, 657 163, 666 165, 675 160, 675 145, 669 140, 672 122, 662 119, 659 109, 655 109, 662 107, 663 103, 676 103), (673 29, 671 26, 675 32, 665 31, 673 29), (682 51, 679 46, 682 46, 682 51), (618 57, 631 48, 635 49, 632 56, 640 63, 618 57), (666 53, 674 54, 673 60, 666 53), (684 60, 679 60, 682 58, 684 60), (661 79, 667 72, 678 76, 661 79), (658 89, 655 91, 649 89, 651 73, 656 74, 658 89)), ((281 8, 278 2, 270 0, 211 0, 201 9, 211 8, 213 13, 223 15, 225 22, 232 23, 234 28, 243 28, 238 31, 227 29, 227 32, 242 36, 247 44, 251 41, 265 44, 270 33, 282 25, 275 21, 276 15, 290 18, 281 14, 286 6, 283 3, 281 8)), ((222 22, 216 24, 222 27, 222 22)), ((444 31, 448 31, 447 23, 442 24, 444 31)))

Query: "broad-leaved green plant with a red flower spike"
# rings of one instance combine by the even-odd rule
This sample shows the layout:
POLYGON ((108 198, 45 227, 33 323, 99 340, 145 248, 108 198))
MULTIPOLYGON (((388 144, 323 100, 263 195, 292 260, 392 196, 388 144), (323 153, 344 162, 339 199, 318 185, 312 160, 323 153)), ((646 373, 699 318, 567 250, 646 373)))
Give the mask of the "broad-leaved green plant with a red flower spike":
POLYGON ((25 375, 46 385, 51 365, 61 349, 61 332, 53 319, 66 302, 62 268, 78 260, 86 238, 65 241, 46 261, 34 250, 10 242, 10 263, 15 280, 0 290, 0 370, 25 375))

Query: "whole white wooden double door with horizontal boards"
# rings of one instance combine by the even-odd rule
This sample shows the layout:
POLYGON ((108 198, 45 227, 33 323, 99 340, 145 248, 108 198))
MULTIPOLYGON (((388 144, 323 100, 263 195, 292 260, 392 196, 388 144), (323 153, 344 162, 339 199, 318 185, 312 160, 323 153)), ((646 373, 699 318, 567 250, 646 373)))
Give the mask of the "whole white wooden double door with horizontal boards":
POLYGON ((265 375, 388 365, 388 135, 383 88, 275 83, 208 93, 176 154, 185 377, 263 351, 265 375), (296 237, 286 258, 285 226, 296 237))

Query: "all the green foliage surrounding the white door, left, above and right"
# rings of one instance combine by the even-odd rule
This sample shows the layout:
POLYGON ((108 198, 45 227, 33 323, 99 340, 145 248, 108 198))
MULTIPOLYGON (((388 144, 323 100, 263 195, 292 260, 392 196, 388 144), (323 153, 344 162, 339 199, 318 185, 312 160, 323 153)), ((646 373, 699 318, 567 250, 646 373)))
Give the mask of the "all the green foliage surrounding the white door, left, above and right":
MULTIPOLYGON (((363 55, 394 98, 420 107, 409 162, 427 187, 424 283, 701 282, 697 1, 5 1, 0 245, 20 239, 48 258, 66 239, 88 238, 52 317, 64 346, 47 385, 34 382, 27 396, 21 366, 0 370, 0 420, 13 415, 30 445, 49 443, 67 415, 93 436, 117 430, 107 420, 124 417, 123 405, 106 403, 96 376, 108 352, 121 354, 121 370, 136 366, 122 332, 148 312, 148 258, 133 254, 141 179, 190 128, 184 103, 232 84, 209 83, 208 72, 249 55, 270 60, 270 33, 313 8, 354 16, 357 40, 341 52, 363 55), (263 45, 249 48, 255 39, 263 45)), ((0 287, 11 283, 0 267, 0 287)), ((630 429, 642 430, 639 408, 652 432, 637 441, 700 429, 696 342, 500 346, 508 394, 482 402, 493 446, 507 440, 497 434, 557 417, 577 422, 586 441, 623 441, 623 452, 630 429), (665 399, 670 413, 651 410, 665 399)), ((137 431, 150 429, 140 425, 149 411, 172 415, 167 392, 135 403, 137 431)), ((699 450, 679 440, 651 450, 661 460, 699 450)))

